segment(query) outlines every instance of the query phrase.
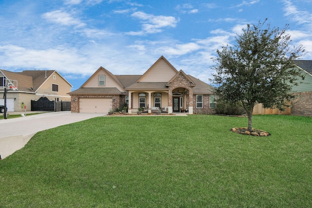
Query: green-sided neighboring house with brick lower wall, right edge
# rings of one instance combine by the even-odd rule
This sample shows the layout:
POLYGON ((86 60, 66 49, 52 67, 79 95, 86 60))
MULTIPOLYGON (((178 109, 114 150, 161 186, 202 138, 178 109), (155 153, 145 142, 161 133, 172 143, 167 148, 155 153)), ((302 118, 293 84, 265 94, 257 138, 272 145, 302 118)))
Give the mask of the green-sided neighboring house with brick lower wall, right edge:
POLYGON ((296 60, 296 66, 302 70, 305 79, 292 87, 292 92, 297 95, 297 99, 292 102, 293 115, 312 116, 312 61, 296 60))

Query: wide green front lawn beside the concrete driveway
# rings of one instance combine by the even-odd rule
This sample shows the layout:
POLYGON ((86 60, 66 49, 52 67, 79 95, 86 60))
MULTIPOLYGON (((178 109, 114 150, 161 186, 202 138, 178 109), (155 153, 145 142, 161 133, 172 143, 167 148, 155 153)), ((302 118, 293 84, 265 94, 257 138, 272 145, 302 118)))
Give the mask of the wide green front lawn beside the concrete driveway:
POLYGON ((312 203, 312 118, 116 116, 38 132, 0 161, 0 207, 289 207, 312 203))

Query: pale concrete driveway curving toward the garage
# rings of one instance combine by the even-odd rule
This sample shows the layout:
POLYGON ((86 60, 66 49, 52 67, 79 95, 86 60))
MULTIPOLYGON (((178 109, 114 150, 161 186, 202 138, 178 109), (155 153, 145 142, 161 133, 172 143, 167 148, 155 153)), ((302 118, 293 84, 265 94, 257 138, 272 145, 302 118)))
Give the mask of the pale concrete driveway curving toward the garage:
POLYGON ((104 116, 106 113, 71 113, 70 111, 26 115, 0 120, 1 158, 23 148, 35 133, 58 126, 104 116))

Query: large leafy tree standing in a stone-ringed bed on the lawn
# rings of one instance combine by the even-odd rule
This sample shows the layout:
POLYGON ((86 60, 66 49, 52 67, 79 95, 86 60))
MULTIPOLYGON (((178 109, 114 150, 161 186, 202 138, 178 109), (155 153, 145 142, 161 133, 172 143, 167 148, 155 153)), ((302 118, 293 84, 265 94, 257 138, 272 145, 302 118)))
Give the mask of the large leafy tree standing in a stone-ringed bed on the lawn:
POLYGON ((234 103, 241 103, 248 115, 248 130, 252 131, 254 106, 284 110, 293 98, 292 85, 304 79, 294 68, 293 60, 302 56, 302 45, 291 47, 289 25, 271 28, 270 23, 247 24, 236 35, 234 46, 217 50, 213 74, 216 94, 234 103))

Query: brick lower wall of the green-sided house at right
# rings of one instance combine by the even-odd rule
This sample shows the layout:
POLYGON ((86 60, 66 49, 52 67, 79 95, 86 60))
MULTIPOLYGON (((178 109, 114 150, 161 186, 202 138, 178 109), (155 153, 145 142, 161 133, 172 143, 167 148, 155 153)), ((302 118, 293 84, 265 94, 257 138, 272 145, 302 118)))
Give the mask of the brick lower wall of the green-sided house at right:
POLYGON ((312 91, 295 95, 297 99, 292 102, 292 115, 312 116, 312 91))

